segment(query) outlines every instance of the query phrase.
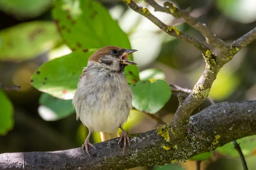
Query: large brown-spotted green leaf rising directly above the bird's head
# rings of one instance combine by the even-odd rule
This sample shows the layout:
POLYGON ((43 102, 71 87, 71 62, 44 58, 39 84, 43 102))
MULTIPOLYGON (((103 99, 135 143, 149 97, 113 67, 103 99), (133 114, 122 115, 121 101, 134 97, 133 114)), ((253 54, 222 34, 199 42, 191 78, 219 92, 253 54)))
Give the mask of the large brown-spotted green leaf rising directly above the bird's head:
POLYGON ((131 48, 127 35, 97 1, 55 0, 52 13, 70 49, 131 48))

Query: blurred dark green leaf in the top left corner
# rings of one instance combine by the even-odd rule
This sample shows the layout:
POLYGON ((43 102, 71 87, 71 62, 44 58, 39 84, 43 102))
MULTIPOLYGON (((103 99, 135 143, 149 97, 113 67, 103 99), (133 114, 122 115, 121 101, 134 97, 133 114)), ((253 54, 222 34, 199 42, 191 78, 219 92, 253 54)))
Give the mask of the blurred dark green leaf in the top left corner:
POLYGON ((52 0, 0 0, 0 10, 17 19, 38 17, 52 4, 52 0))

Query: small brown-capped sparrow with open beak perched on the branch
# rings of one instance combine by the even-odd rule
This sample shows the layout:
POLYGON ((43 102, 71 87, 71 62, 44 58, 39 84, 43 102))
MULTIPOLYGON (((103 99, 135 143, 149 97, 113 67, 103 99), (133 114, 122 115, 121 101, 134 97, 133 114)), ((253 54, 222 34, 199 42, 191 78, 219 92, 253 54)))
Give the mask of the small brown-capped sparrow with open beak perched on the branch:
MULTIPOLYGON (((89 134, 82 149, 90 156, 88 146, 95 149, 89 142, 95 132, 114 133, 122 130, 119 142, 130 140, 122 126, 127 122, 132 109, 132 91, 124 76, 127 65, 137 63, 129 60, 128 56, 137 50, 117 46, 105 46, 92 54, 83 69, 73 98, 76 109, 76 119, 89 129, 89 134)), ((119 144, 118 142, 118 144, 119 144)))

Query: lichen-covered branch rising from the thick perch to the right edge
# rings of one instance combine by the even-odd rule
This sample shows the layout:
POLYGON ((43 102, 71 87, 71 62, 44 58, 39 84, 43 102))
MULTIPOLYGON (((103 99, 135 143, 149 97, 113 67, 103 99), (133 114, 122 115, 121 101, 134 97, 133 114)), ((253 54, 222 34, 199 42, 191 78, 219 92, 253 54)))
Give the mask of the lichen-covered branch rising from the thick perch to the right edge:
POLYGON ((183 138, 192 111, 201 105, 201 103, 207 98, 212 83, 216 79, 218 71, 220 71, 220 69, 233 58, 233 56, 241 49, 241 47, 244 47, 244 45, 253 42, 255 39, 256 28, 230 44, 230 54, 224 54, 222 51, 218 51, 214 56, 214 60, 212 60, 209 58, 212 57, 213 54, 211 54, 211 51, 208 51, 209 55, 207 54, 205 56, 206 68, 204 73, 195 84, 192 93, 190 93, 189 96, 183 101, 182 105, 178 107, 175 113, 174 119, 172 121, 172 128, 176 134, 174 137, 183 138))

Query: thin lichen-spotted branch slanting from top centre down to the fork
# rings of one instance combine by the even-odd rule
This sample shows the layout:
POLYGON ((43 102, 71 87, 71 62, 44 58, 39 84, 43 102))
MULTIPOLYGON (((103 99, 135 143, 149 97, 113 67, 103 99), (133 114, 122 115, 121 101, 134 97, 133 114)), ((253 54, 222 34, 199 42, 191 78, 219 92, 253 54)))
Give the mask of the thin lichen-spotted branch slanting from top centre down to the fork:
POLYGON ((202 42, 200 42, 199 40, 195 39, 194 37, 191 37, 190 35, 183 33, 179 30, 177 30, 177 28, 173 27, 173 26, 167 26, 166 24, 164 24, 162 21, 160 21, 157 17, 155 17, 154 15, 152 15, 147 8, 145 7, 141 7, 138 6, 136 3, 134 3, 132 0, 124 0, 125 3, 134 11, 142 14, 144 17, 148 18, 148 20, 151 20, 152 23, 154 23, 156 26, 158 26, 160 29, 162 29, 163 31, 165 31, 167 34, 173 36, 173 37, 177 37, 180 40, 183 40, 185 42, 188 42, 192 45, 194 45, 196 48, 198 48, 203 54, 206 53, 207 50, 209 50, 209 48, 207 46, 205 46, 202 42))

